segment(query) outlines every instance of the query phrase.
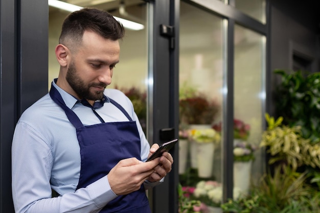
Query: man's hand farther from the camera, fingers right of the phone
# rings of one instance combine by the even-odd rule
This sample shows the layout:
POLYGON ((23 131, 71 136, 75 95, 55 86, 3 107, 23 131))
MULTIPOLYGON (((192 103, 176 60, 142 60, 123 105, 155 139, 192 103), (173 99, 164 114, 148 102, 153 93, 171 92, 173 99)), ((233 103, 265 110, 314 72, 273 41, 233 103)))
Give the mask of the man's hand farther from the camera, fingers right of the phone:
MULTIPOLYGON (((154 153, 159 145, 153 144, 150 149, 149 157, 154 153)), ((155 158, 149 162, 156 162, 156 167, 154 167, 154 172, 147 179, 150 182, 156 182, 161 180, 171 171, 171 165, 173 163, 173 158, 169 152, 164 152, 161 157, 155 158)))

